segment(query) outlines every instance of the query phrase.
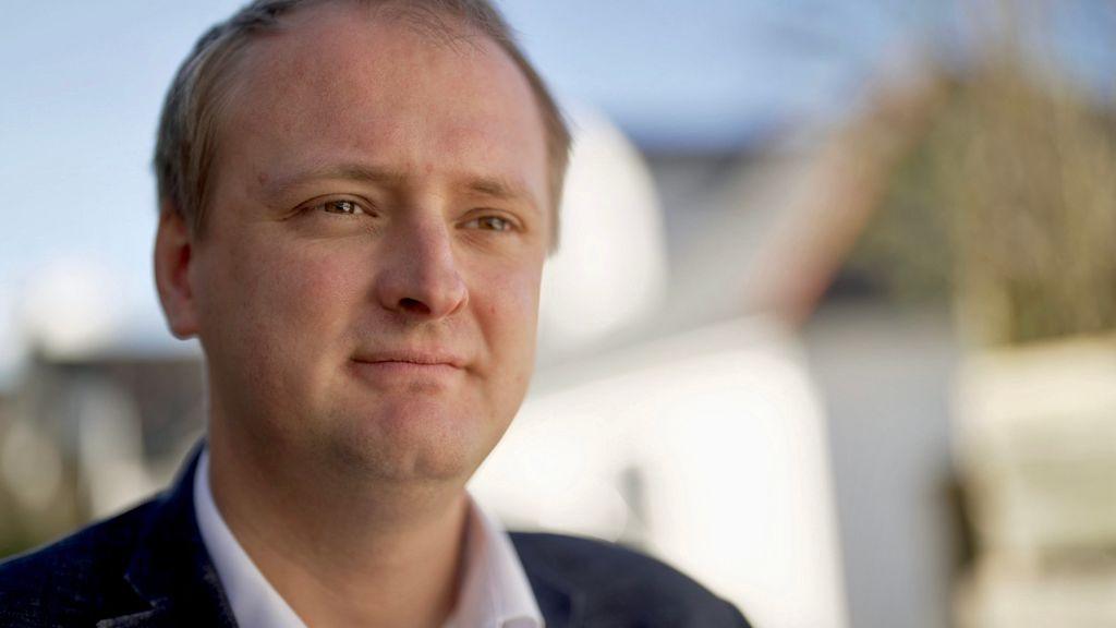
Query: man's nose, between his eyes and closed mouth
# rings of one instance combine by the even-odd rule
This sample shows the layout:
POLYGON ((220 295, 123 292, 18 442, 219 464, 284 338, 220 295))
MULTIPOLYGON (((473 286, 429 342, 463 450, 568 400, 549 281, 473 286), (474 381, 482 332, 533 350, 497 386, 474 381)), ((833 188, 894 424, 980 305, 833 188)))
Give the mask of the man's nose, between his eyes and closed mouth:
POLYGON ((386 236, 387 259, 377 293, 389 311, 421 318, 443 318, 465 306, 469 289, 453 251, 453 234, 441 220, 410 220, 386 236))

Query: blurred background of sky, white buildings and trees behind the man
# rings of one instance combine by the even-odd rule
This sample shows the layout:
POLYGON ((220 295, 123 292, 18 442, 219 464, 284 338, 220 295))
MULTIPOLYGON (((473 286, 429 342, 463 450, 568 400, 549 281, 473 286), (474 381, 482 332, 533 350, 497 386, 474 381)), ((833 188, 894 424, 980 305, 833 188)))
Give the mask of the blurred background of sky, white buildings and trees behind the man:
MULTIPOLYGON (((499 3, 577 141, 473 492, 762 628, 1116 625, 1116 4, 499 3)), ((150 160, 239 4, 3 3, 0 555, 201 435, 150 160)))

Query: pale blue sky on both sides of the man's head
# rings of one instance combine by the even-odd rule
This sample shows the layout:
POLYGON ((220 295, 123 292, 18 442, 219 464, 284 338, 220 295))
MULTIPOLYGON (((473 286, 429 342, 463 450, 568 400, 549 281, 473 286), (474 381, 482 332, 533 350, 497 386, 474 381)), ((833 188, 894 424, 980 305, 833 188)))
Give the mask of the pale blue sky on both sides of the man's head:
MULTIPOLYGON (((127 333, 166 337, 148 260, 155 120, 193 41, 240 3, 4 1, 0 378, 13 322, 23 316, 28 291, 42 292, 42 277, 55 282, 73 272, 73 282, 92 282, 92 292, 116 308, 127 333)), ((501 2, 559 94, 603 108, 644 145, 691 150, 739 146, 758 130, 839 115, 891 54, 920 34, 941 38, 950 4, 501 2)), ((1099 6, 1066 6, 1078 4, 1099 6)), ((1066 11, 1052 28, 1065 30, 1067 54, 1103 80, 1113 66, 1110 49, 1098 41, 1116 22, 1094 13, 1066 11)))

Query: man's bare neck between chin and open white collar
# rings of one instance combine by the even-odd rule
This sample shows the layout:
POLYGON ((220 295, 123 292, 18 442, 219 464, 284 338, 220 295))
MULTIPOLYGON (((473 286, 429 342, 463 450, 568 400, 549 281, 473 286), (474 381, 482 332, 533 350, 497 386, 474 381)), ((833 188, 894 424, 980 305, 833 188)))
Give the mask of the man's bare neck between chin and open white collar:
POLYGON ((441 626, 453 609, 461 486, 338 486, 260 468, 211 438, 214 501, 237 541, 307 626, 441 626))

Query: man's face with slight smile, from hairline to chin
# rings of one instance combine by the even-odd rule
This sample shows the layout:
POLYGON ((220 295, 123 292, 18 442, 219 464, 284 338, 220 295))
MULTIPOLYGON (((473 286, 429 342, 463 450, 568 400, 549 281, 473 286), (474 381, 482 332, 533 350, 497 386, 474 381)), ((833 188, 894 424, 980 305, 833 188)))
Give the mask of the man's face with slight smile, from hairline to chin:
POLYGON ((543 125, 492 41, 371 17, 298 12, 235 69, 189 265, 214 429, 291 464, 464 478, 533 363, 543 125))

